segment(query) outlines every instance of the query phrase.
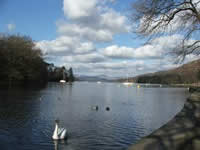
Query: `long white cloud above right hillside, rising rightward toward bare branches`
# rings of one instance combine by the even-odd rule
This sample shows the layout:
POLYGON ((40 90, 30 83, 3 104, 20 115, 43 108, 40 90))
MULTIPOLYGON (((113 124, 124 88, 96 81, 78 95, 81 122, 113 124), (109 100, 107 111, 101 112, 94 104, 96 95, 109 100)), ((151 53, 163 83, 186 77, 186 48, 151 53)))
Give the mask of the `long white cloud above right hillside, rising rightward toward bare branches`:
POLYGON ((112 45, 102 49, 101 53, 111 58, 160 59, 175 48, 181 38, 180 35, 159 37, 153 40, 152 43, 138 48, 112 45))

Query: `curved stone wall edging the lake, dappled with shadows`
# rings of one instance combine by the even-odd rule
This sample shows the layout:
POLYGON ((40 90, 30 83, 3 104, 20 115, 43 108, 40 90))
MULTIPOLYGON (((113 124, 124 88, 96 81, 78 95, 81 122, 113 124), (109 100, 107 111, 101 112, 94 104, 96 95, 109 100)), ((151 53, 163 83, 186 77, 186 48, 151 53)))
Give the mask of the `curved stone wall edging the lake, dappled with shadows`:
POLYGON ((200 150, 200 88, 190 88, 181 112, 128 150, 200 150))

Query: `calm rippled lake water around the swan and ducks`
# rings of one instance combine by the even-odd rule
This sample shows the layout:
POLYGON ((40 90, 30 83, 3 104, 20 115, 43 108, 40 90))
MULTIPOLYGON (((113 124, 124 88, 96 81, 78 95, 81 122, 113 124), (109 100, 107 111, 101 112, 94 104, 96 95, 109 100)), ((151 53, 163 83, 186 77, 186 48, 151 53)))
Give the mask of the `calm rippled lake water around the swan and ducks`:
POLYGON ((137 89, 118 83, 0 90, 0 149, 126 149, 171 119, 186 96, 183 88, 137 89), (95 105, 98 111, 91 109, 95 105), (57 118, 69 131, 66 141, 51 139, 57 118))

